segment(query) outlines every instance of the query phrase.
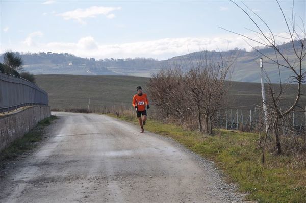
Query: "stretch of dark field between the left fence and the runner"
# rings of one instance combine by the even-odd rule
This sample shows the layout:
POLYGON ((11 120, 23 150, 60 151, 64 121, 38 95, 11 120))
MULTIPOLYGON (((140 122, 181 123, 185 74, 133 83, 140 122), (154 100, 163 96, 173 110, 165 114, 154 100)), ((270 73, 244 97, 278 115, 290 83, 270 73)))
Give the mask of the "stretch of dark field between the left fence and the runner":
MULTIPOLYGON (((49 94, 52 109, 103 109, 130 105, 137 86, 148 78, 85 75, 35 75, 36 83, 49 94)), ((145 88, 144 88, 145 90, 145 88)))

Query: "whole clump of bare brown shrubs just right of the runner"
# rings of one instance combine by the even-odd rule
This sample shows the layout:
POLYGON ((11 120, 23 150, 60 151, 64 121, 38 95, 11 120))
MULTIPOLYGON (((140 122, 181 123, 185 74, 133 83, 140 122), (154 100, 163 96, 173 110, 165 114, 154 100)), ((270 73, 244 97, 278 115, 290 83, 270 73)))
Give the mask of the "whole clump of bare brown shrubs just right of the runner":
POLYGON ((148 91, 161 115, 179 119, 182 124, 188 121, 189 126, 195 120, 200 132, 212 134, 213 117, 224 109, 230 88, 225 80, 235 58, 202 54, 199 60, 190 59, 187 72, 177 67, 160 70, 150 79, 148 91))

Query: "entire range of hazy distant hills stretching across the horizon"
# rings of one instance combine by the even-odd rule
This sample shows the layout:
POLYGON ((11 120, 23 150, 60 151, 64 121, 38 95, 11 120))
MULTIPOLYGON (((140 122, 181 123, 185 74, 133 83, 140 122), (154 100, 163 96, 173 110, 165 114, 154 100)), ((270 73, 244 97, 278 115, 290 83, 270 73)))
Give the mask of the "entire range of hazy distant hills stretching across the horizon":
MULTIPOLYGON (((281 49, 287 50, 289 60, 293 60, 290 44, 283 44, 281 49)), ((274 50, 271 48, 261 49, 265 55, 275 58, 274 50)), ((24 61, 25 71, 33 74, 77 74, 77 75, 133 75, 141 77, 150 77, 161 68, 181 65, 187 71, 190 68, 190 61, 196 64, 204 55, 220 57, 237 57, 236 66, 231 80, 241 82, 260 82, 259 59, 262 57, 258 52, 246 52, 244 50, 229 50, 227 52, 194 52, 187 55, 173 57, 168 60, 158 61, 152 58, 127 58, 127 59, 101 59, 81 58, 68 53, 18 53, 24 61)), ((0 62, 3 57, 0 56, 0 62)), ((265 59, 264 59, 265 60, 265 59)), ((272 82, 279 82, 278 68, 275 65, 264 61, 264 68, 269 74, 272 82)), ((305 64, 306 65, 306 64, 305 64)), ((281 69, 282 81, 287 79, 289 71, 281 69)))

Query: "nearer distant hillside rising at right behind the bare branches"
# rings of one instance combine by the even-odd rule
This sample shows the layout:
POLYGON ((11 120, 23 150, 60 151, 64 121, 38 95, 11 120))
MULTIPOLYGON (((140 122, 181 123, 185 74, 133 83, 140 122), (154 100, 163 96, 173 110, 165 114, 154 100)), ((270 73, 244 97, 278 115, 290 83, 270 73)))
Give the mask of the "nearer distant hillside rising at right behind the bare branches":
MULTIPOLYGON (((298 43, 298 42, 295 42, 298 43)), ((296 47, 298 45, 296 44, 296 47)), ((259 48, 260 52, 276 60, 274 49, 262 47, 259 48)), ((293 55, 292 43, 284 43, 283 45, 278 47, 281 50, 284 50, 286 56, 289 61, 293 62, 295 57, 293 55), (286 52, 285 52, 286 50, 286 52)), ((265 71, 268 73, 270 80, 273 83, 279 82, 279 73, 278 67, 275 64, 271 64, 268 59, 263 57, 259 52, 253 50, 252 52, 246 52, 244 50, 229 50, 227 52, 194 52, 183 56, 173 57, 167 60, 167 63, 171 64, 180 64, 184 63, 184 66, 188 69, 190 68, 190 60, 192 60, 193 64, 196 64, 196 61, 199 61, 203 58, 204 55, 208 57, 213 56, 215 59, 220 58, 220 54, 222 57, 237 57, 236 66, 233 71, 233 75, 231 80, 233 81, 240 81, 240 82, 260 82, 260 68, 259 68, 259 61, 262 57, 264 60, 264 68, 265 71)), ((281 60, 280 60, 281 61, 281 60)), ((284 61, 281 61, 284 62, 284 61)), ((293 64, 293 63, 292 63, 293 64)), ((306 68, 306 60, 304 61, 304 67, 306 68)), ((286 81, 290 77, 290 71, 286 68, 280 68, 282 72, 282 82, 286 81)))

